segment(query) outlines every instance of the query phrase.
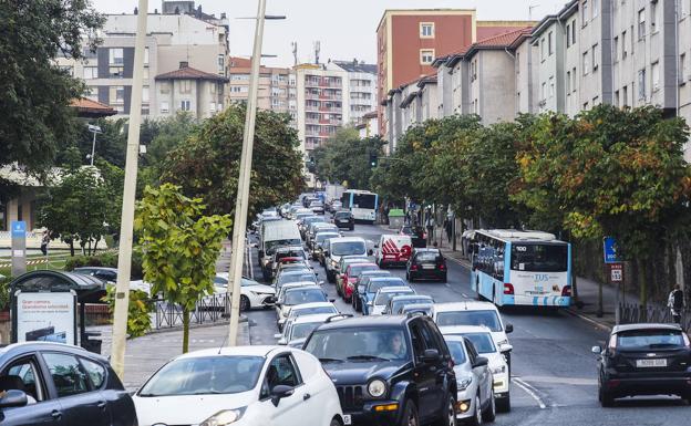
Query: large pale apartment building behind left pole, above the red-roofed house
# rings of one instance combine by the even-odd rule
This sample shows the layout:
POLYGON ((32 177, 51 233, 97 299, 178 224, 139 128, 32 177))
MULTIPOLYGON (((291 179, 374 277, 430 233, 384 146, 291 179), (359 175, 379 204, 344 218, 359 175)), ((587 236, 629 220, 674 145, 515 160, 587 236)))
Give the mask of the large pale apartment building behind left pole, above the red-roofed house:
MULTIPOLYGON (((194 1, 163 1, 163 13, 155 11, 147 15, 147 31, 144 53, 144 86, 142 114, 161 117, 176 111, 192 111, 200 117, 223 110, 227 102, 226 84, 217 93, 219 102, 214 105, 187 103, 166 105, 167 93, 156 87, 157 76, 178 70, 186 62, 192 70, 227 77, 228 20, 206 14, 194 1), (172 11, 172 12, 171 12, 172 11)), ((135 11, 136 12, 136 11, 135 11)), ((85 52, 84 61, 58 58, 59 66, 81 77, 89 87, 89 98, 112 106, 118 115, 130 114, 132 77, 134 67, 134 44, 136 35, 136 13, 109 14, 100 34, 103 43, 96 52, 85 52)), ((163 80, 162 80, 163 81, 163 80)))

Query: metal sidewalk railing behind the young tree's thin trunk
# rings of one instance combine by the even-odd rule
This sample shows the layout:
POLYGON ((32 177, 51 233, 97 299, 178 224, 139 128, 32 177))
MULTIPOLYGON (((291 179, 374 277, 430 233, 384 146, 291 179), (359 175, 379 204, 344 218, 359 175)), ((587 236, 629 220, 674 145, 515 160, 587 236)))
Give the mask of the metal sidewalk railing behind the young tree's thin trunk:
MULTIPOLYGON (((154 300, 155 314, 154 328, 168 329, 183 325, 183 308, 165 300, 154 300)), ((197 302, 196 308, 189 312, 190 324, 207 324, 228 321, 226 312, 229 311, 230 298, 226 293, 206 297, 197 302)))

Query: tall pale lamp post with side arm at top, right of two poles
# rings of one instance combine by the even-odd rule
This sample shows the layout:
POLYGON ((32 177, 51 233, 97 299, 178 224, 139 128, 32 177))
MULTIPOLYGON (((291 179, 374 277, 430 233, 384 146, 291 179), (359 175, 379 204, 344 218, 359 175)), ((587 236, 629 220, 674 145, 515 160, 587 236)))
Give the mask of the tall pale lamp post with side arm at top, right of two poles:
POLYGON ((245 114, 245 131, 243 134, 243 153, 240 154, 240 173, 238 177, 238 193, 235 202, 235 221, 233 222, 233 252, 230 253, 230 271, 228 273, 230 293, 230 326, 228 329, 228 345, 237 344, 237 333, 240 320, 240 280, 243 279, 243 262, 245 253, 245 229, 247 228, 247 210, 249 207, 249 177, 251 173, 252 149, 255 144, 255 120, 257 117, 257 92, 259 87, 259 66, 261 63, 261 39, 264 38, 265 20, 286 19, 281 15, 266 14, 266 0, 259 0, 257 8, 257 24, 255 28, 255 48, 249 77, 249 93, 247 96, 247 112, 245 114))

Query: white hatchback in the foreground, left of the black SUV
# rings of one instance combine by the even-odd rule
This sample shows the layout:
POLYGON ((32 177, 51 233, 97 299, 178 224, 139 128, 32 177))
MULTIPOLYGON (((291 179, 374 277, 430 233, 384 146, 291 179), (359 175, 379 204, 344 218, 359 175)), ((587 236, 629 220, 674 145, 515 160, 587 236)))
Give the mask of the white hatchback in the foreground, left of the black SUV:
POLYGON ((140 426, 333 426, 343 413, 319 360, 286 346, 204 350, 168 362, 132 397, 140 426))

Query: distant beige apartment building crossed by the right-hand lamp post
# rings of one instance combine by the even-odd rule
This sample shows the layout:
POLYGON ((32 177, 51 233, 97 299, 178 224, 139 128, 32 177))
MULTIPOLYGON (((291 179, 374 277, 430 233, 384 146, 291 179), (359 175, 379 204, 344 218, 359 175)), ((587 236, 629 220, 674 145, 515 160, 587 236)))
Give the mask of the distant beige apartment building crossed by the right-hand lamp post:
MULTIPOLYGON (((247 102, 250 73, 251 59, 239 56, 228 59, 230 102, 247 102)), ((259 67, 257 106, 260 110, 290 113, 293 120, 297 117, 295 76, 290 69, 264 65, 259 67)))

